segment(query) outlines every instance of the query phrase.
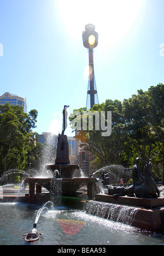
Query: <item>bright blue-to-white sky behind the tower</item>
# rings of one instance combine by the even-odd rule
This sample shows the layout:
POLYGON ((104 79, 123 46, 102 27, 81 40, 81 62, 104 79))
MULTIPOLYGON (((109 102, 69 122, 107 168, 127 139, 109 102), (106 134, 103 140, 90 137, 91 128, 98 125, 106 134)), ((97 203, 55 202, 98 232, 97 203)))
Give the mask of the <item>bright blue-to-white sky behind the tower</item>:
POLYGON ((38 110, 33 131, 61 132, 63 106, 86 104, 89 23, 99 103, 164 83, 163 12, 164 0, 0 0, 0 95, 26 96, 27 111, 38 110))

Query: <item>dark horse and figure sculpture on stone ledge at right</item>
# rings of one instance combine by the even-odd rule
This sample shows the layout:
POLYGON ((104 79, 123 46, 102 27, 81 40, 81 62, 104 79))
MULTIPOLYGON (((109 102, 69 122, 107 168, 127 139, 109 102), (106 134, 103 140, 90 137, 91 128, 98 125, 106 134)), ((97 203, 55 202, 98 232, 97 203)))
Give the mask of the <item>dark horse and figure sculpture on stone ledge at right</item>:
POLYGON ((107 195, 95 195, 96 211, 106 207, 104 218, 115 219, 118 212, 127 212, 126 206, 132 206, 129 212, 134 213, 132 225, 148 230, 161 229, 164 226, 164 199, 160 197, 160 191, 151 177, 152 159, 145 162, 144 176, 139 168, 140 160, 136 158, 136 164, 132 167, 133 185, 128 188, 108 185, 107 195))

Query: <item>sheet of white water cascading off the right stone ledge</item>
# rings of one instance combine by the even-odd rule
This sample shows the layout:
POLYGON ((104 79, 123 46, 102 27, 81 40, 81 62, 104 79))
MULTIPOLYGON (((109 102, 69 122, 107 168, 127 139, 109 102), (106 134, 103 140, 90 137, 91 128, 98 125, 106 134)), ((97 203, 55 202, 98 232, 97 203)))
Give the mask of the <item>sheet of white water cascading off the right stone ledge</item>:
POLYGON ((84 211, 86 213, 129 225, 133 223, 134 217, 138 210, 139 208, 135 206, 126 206, 116 203, 106 203, 92 200, 84 205, 84 211))

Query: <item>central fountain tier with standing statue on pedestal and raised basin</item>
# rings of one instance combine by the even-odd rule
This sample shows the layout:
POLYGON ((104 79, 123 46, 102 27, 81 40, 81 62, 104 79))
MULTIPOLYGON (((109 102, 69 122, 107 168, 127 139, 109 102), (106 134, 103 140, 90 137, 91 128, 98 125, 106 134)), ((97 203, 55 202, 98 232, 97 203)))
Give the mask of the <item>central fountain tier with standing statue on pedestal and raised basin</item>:
POLYGON ((93 199, 94 192, 93 187, 97 182, 96 178, 83 178, 74 177, 76 170, 79 170, 79 165, 72 165, 69 161, 69 148, 67 136, 64 134, 67 128, 67 108, 64 106, 63 109, 63 128, 62 133, 58 135, 57 153, 55 164, 46 165, 47 170, 51 170, 54 173, 54 177, 29 177, 26 181, 29 183, 29 202, 39 202, 40 193, 42 193, 42 187, 48 189, 51 193, 56 190, 57 183, 61 184, 62 195, 74 195, 75 192, 82 187, 87 185, 87 196, 89 199, 93 199), (35 191, 36 185, 36 194, 35 191))

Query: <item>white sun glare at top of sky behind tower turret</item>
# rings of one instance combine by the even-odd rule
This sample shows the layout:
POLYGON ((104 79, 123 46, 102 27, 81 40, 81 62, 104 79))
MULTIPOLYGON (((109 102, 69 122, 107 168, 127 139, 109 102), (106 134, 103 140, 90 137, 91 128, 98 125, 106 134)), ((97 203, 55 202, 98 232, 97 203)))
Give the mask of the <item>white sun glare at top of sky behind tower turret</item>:
POLYGON ((126 36, 142 4, 143 0, 58 0, 58 10, 69 36, 80 41, 85 25, 92 23, 104 49, 126 36))

